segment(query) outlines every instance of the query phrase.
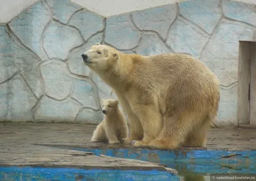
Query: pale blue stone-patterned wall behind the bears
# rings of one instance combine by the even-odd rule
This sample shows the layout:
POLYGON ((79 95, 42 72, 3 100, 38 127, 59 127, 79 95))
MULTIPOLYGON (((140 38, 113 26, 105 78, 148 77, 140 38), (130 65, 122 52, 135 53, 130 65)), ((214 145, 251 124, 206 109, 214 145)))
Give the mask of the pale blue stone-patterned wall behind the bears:
POLYGON ((205 62, 221 81, 216 124, 236 126, 239 41, 255 41, 255 26, 256 6, 236 1, 184 1, 108 18, 68 0, 39 1, 0 25, 0 120, 98 123, 100 99, 115 95, 81 54, 100 42, 205 62))

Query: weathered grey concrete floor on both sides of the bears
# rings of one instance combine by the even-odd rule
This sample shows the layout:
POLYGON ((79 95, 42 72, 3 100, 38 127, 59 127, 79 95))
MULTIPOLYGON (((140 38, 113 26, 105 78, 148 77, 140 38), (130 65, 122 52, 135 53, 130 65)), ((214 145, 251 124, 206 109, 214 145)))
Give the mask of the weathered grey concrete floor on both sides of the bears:
MULTIPOLYGON (((0 165, 74 166, 83 168, 158 169, 159 164, 113 157, 96 157, 90 153, 51 147, 70 148, 131 147, 90 143, 95 125, 52 123, 0 123, 0 165), (48 146, 47 146, 48 145, 48 146), (50 147, 49 147, 50 146, 50 147), (106 164, 108 163, 108 164, 106 164)), ((256 150, 256 131, 243 129, 209 130, 207 149, 256 150)))

